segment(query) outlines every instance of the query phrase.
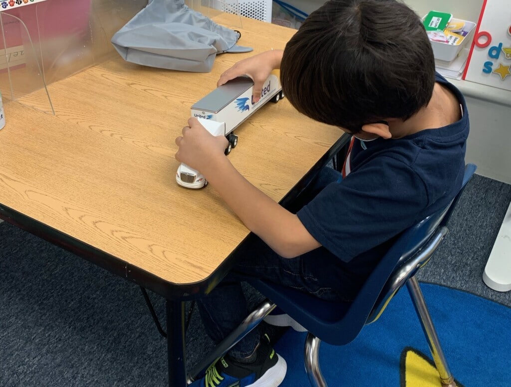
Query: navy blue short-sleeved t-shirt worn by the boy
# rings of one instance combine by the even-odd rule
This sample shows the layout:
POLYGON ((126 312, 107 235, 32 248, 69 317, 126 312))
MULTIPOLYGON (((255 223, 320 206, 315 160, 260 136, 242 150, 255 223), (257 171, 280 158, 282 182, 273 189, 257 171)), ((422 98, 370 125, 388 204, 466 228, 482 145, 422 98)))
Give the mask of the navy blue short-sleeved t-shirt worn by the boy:
POLYGON ((399 139, 355 139, 350 174, 297 213, 326 253, 338 258, 344 279, 361 283, 395 236, 447 206, 461 187, 467 107, 452 84, 438 74, 436 82, 456 95, 458 122, 399 139))

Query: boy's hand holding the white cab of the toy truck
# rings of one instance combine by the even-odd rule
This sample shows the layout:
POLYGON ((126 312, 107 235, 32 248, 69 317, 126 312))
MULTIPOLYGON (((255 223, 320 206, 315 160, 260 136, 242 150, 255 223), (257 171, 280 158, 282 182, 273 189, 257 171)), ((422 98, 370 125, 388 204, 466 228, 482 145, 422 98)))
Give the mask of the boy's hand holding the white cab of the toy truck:
POLYGON ((179 149, 176 159, 204 173, 207 166, 215 163, 219 157, 225 157, 227 148, 225 136, 213 136, 195 117, 188 120, 188 126, 182 130, 182 136, 176 138, 179 149))

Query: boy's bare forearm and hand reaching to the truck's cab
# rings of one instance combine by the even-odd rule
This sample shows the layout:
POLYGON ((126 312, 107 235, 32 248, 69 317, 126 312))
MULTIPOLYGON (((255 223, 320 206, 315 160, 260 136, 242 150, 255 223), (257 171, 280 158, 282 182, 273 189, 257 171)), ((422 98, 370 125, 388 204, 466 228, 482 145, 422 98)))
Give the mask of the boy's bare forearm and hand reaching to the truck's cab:
POLYGON ((214 137, 196 118, 176 138, 176 158, 199 170, 245 226, 278 255, 293 258, 321 245, 298 217, 248 182, 230 163, 223 151, 224 136, 214 137))

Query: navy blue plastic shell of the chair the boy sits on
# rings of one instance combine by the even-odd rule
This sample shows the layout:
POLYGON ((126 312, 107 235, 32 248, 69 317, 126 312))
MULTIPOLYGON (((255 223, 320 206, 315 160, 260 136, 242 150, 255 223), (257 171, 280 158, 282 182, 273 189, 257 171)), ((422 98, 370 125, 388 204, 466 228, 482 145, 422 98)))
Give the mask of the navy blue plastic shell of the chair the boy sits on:
POLYGON ((418 267, 403 272, 406 262, 417 258, 424 260, 421 255, 423 251, 428 251, 429 256, 434 252, 447 233, 445 225, 448 218, 475 169, 475 165, 467 165, 462 187, 448 207, 428 216, 399 236, 371 272, 353 302, 318 300, 294 289, 264 281, 254 281, 252 285, 322 341, 333 345, 350 343, 366 323, 381 315, 390 298, 396 294, 399 289, 396 287, 396 276, 403 276, 398 281, 398 285, 402 286, 415 273, 418 267))

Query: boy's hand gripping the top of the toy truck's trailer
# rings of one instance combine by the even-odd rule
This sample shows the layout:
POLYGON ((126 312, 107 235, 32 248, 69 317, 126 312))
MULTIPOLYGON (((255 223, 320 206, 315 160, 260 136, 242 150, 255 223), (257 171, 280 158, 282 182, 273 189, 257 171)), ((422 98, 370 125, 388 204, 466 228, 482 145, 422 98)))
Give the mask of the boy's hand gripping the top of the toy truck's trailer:
POLYGON ((280 67, 282 54, 282 50, 271 50, 243 59, 220 76, 217 86, 236 77, 247 75, 254 81, 253 99, 254 102, 258 102, 261 98, 264 81, 268 79, 272 70, 280 67))

